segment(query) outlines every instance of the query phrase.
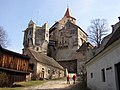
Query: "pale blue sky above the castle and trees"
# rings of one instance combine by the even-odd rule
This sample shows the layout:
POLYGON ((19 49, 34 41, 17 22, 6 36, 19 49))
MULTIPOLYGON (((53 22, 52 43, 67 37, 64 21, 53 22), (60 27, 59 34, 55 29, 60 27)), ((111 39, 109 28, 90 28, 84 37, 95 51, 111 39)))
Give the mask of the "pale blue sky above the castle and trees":
POLYGON ((119 21, 119 0, 0 0, 0 26, 8 35, 7 49, 22 53, 23 31, 29 21, 39 26, 48 22, 50 28, 62 19, 67 6, 86 33, 93 19, 107 19, 110 32, 111 25, 119 21))

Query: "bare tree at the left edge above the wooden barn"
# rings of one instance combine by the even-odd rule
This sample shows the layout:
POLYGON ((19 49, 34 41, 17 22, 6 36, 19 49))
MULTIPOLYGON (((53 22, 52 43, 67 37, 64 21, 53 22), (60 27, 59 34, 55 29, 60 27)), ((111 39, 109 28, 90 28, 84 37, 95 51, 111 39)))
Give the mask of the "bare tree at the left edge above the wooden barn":
POLYGON ((0 45, 2 47, 7 47, 7 45, 8 45, 7 33, 5 32, 5 30, 2 27, 0 27, 0 45))

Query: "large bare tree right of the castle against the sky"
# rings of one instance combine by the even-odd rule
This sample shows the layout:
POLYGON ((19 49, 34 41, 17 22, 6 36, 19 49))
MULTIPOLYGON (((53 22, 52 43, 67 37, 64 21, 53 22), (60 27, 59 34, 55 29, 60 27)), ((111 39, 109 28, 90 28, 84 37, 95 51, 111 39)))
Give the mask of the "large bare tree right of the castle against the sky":
POLYGON ((89 39, 96 46, 100 46, 102 39, 108 33, 108 23, 106 19, 94 19, 88 27, 89 39))

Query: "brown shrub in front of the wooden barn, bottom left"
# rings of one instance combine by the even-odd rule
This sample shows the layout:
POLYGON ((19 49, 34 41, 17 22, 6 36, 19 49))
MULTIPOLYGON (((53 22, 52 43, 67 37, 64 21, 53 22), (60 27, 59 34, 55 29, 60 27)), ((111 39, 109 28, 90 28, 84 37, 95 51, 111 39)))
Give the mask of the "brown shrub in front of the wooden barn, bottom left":
POLYGON ((8 77, 6 75, 6 73, 4 72, 0 72, 0 87, 6 87, 8 86, 8 77))

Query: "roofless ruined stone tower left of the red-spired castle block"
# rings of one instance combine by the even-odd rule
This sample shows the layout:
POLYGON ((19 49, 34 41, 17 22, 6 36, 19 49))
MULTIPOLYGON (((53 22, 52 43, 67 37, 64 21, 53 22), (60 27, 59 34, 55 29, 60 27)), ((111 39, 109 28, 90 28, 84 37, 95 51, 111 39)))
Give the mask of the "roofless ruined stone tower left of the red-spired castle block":
POLYGON ((39 27, 32 20, 30 20, 27 29, 24 31, 23 52, 26 49, 32 49, 37 52, 47 54, 48 43, 48 24, 45 23, 42 27, 39 27))

